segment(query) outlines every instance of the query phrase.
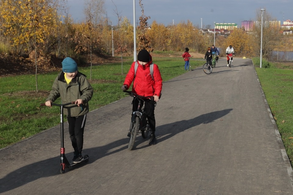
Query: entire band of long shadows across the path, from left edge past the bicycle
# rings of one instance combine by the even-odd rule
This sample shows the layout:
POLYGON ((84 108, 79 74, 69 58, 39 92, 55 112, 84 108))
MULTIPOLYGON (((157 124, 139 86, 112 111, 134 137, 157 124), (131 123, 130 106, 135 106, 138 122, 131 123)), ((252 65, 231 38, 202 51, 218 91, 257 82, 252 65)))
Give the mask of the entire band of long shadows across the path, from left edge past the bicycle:
MULTIPOLYGON (((168 123, 165 125, 157 126, 158 131, 158 142, 163 142, 167 140, 177 133, 183 132, 186 129, 190 129, 191 127, 200 125, 200 124, 208 124, 210 122, 214 122, 216 119, 219 119, 227 114, 229 114, 233 109, 225 109, 221 111, 210 112, 207 114, 203 114, 197 116, 193 119, 189 120, 181 120, 177 122, 168 123), (166 136, 164 136, 166 135, 166 136)), ((93 163, 94 161, 103 158, 105 156, 109 156, 111 154, 117 153, 119 151, 127 149, 127 146, 121 147, 128 143, 129 138, 123 138, 120 140, 116 140, 111 142, 110 144, 101 146, 101 147, 94 147, 86 149, 86 151, 90 151, 91 155, 88 164, 93 163), (111 151, 110 150, 120 147, 117 150, 111 151)), ((138 139, 136 141, 136 145, 143 143, 146 141, 145 139, 138 139)), ((135 149, 142 149, 144 147, 148 147, 148 145, 144 145, 143 147, 137 147, 135 149)), ((68 158, 69 155, 67 155, 68 158)), ((70 160, 70 159, 69 159, 70 160)), ((84 166, 85 164, 77 165, 76 168, 84 166)), ((56 156, 53 158, 49 158, 43 161, 38 161, 32 163, 30 165, 26 165, 21 167, 2 179, 0 179, 0 193, 15 189, 17 187, 23 186, 27 183, 30 183, 34 180, 45 178, 49 176, 56 176, 59 175, 59 168, 60 167, 60 156, 56 156), (12 182, 13 181, 13 182, 12 182)), ((68 168, 67 168, 68 171, 68 168)))

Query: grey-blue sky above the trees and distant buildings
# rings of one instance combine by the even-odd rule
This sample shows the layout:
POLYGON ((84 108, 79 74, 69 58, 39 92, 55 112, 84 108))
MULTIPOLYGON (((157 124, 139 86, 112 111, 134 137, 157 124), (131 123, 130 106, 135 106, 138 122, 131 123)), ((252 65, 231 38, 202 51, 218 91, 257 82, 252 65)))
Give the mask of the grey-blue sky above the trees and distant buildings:
MULTIPOLYGON (((142 0, 145 16, 150 16, 148 23, 156 20, 159 24, 176 24, 190 20, 195 26, 204 28, 205 25, 214 26, 216 23, 236 23, 241 27, 241 21, 255 20, 259 9, 266 9, 264 14, 280 20, 293 21, 292 0, 142 0), (215 2, 215 3, 214 3, 215 2)), ((69 14, 74 22, 84 19, 84 0, 67 0, 69 14)), ((139 0, 136 4, 136 22, 141 16, 139 0)), ((133 0, 105 0, 105 17, 112 25, 117 25, 116 7, 120 16, 127 17, 133 24, 133 0)))

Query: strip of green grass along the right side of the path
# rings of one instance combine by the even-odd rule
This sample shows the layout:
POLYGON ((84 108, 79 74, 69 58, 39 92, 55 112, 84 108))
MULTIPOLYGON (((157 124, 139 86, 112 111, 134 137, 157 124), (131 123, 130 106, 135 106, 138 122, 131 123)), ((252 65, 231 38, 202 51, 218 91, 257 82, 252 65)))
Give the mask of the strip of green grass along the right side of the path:
POLYGON ((276 68, 275 65, 255 69, 293 166, 293 70, 276 68))

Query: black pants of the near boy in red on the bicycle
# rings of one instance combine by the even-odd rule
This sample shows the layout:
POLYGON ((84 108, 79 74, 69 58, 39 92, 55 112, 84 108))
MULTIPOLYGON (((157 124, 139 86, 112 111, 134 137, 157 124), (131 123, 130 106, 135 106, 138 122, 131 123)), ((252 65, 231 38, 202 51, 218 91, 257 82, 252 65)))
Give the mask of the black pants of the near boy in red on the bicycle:
MULTIPOLYGON (((154 102, 147 99, 145 101, 139 100, 138 98, 133 98, 132 101, 132 112, 136 112, 137 106, 139 101, 141 102, 141 107, 144 104, 144 110, 145 114, 147 115, 147 120, 149 121, 150 124, 150 132, 153 134, 156 131, 156 119, 155 119, 155 105, 154 102)), ((140 110, 141 112, 141 110, 140 110)))

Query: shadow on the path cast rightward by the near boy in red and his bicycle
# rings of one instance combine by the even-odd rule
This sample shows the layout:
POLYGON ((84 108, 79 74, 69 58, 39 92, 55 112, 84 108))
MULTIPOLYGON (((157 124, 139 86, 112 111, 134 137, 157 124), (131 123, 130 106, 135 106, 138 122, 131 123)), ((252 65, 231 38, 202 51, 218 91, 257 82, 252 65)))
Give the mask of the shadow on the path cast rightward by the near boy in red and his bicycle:
MULTIPOLYGON (((220 110, 220 111, 215 111, 215 112, 210 112, 207 114, 202 114, 199 115, 193 119, 189 119, 189 120, 181 120, 181 121, 176 121, 176 122, 172 122, 172 123, 168 123, 165 125, 161 125, 161 126, 157 126, 156 127, 156 138, 157 138, 157 142, 162 142, 165 141, 171 137, 173 137, 174 135, 183 132, 187 129, 190 129, 194 126, 200 125, 200 124, 208 124, 210 122, 214 122, 215 120, 229 114, 233 109, 225 109, 225 110, 220 110), (165 136, 166 135, 166 136, 165 136)), ((145 142, 145 139, 139 139, 136 141, 136 146, 142 144, 143 142, 145 142)), ((143 149, 145 147, 148 147, 148 145, 144 145, 141 147, 136 147, 133 150, 139 150, 139 149, 143 149)))

